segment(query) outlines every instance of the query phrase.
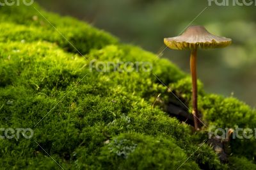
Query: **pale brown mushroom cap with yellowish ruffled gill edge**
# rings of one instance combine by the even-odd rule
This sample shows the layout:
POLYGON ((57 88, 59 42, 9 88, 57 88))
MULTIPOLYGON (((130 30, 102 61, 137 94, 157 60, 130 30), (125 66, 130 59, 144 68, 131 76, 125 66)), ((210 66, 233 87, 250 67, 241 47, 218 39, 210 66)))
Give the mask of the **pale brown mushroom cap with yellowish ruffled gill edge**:
POLYGON ((167 47, 174 50, 183 49, 214 49, 227 47, 232 40, 221 36, 212 35, 204 26, 190 26, 180 36, 164 38, 167 47))

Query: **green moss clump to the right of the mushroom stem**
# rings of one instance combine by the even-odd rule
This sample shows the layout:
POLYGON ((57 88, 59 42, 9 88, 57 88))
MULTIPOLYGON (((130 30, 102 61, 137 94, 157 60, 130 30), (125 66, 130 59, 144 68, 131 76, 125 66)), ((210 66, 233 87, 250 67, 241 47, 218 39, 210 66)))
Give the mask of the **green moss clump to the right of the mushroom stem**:
MULTIPOLYGON (((234 130, 236 128, 250 128, 253 130, 253 134, 255 133, 256 112, 234 97, 205 95, 199 107, 204 112, 204 119, 209 122, 209 127, 233 128, 234 130)), ((239 135, 242 135, 242 132, 239 132, 239 135)), ((239 139, 239 137, 234 136, 234 138, 231 141, 232 153, 252 160, 256 154, 255 137, 239 139)))

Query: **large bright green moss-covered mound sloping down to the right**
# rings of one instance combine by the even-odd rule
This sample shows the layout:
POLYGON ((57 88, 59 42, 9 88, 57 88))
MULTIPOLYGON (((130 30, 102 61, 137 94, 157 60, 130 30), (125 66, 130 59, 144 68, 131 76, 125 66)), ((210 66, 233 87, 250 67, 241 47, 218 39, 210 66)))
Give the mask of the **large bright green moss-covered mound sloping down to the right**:
MULTIPOLYGON (((255 169, 255 141, 235 140, 229 163, 221 164, 205 133, 152 107, 159 94, 177 100, 159 79, 190 105, 190 79, 170 61, 35 4, 0 7, 0 21, 1 136, 3 128, 34 131, 31 139, 0 139, 3 169, 255 169), (96 72, 95 59, 153 69, 96 72)), ((256 123, 245 104, 202 88, 200 110, 207 125, 256 123)))

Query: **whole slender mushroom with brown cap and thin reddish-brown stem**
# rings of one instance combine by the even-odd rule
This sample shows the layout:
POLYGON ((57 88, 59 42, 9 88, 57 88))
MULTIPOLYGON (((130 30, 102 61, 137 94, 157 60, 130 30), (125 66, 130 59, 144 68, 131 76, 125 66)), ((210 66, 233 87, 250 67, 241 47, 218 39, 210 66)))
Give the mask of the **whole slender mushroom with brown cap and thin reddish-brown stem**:
POLYGON ((197 50, 214 49, 227 47, 232 40, 221 36, 215 36, 209 33, 204 26, 190 26, 180 36, 172 38, 164 38, 164 43, 167 47, 174 50, 191 50, 190 54, 190 70, 192 77, 192 103, 193 117, 195 129, 199 129, 198 125, 198 108, 197 108, 197 82, 196 82, 196 55, 197 50))

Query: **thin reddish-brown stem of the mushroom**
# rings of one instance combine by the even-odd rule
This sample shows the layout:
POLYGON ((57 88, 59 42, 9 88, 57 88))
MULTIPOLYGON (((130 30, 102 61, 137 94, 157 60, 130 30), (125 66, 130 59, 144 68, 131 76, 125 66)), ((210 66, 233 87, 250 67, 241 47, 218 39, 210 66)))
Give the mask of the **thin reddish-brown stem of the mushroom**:
POLYGON ((190 70, 192 77, 192 103, 193 103, 193 117, 194 117, 194 125, 195 130, 198 130, 198 109, 197 109, 197 82, 196 82, 196 55, 197 55, 197 47, 191 50, 190 55, 190 70))

